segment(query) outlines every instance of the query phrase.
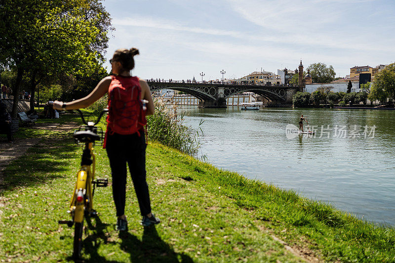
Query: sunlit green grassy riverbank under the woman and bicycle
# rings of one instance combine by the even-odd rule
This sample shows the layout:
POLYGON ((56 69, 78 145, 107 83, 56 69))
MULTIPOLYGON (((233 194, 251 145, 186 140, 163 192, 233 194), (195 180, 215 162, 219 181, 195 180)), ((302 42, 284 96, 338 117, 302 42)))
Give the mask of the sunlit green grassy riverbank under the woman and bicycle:
MULTIPOLYGON (((76 121, 65 115, 57 121, 76 121)), ((45 120, 50 122, 49 120, 45 120)), ((81 149, 70 133, 47 133, 39 145, 2 172, 0 259, 70 260, 73 229, 66 213, 81 149)), ((19 136, 30 136, 22 129, 19 136)), ((106 152, 96 147, 97 176, 109 177, 106 152)), ((139 225, 131 180, 129 230, 114 230, 111 187, 95 193, 99 219, 89 221, 86 261, 111 262, 394 262, 395 231, 264 183, 222 171, 157 143, 147 148, 147 182, 156 228, 139 225), (285 244, 285 242, 287 244, 285 244)))

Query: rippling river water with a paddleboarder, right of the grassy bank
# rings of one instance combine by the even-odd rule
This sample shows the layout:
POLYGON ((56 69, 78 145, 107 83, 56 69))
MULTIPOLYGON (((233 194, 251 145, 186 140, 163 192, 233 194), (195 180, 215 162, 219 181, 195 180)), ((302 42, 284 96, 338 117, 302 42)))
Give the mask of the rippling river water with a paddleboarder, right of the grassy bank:
POLYGON ((204 120, 201 154, 216 167, 395 226, 395 111, 180 110, 195 130, 204 120), (301 114, 314 135, 290 132, 301 114))

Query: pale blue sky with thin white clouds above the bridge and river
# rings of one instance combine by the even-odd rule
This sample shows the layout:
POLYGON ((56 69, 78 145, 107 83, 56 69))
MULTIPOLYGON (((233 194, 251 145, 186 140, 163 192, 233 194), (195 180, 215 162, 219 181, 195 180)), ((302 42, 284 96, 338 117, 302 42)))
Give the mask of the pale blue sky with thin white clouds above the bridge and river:
MULTIPOLYGON (((133 75, 219 79, 294 70, 302 58, 354 66, 395 61, 395 0, 106 0, 119 47, 137 47, 133 75)), ((106 65, 110 69, 110 64, 106 65)))

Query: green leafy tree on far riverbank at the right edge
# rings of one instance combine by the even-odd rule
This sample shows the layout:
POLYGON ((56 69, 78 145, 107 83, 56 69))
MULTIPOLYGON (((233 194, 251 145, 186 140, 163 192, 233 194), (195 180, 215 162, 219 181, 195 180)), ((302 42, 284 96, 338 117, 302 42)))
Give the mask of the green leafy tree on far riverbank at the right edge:
MULTIPOLYGON (((385 96, 395 99, 395 63, 388 65, 374 76, 374 83, 371 88, 372 96, 385 96)), ((370 93, 369 93, 370 94, 370 93)), ((380 102, 384 102, 377 97, 380 102)))

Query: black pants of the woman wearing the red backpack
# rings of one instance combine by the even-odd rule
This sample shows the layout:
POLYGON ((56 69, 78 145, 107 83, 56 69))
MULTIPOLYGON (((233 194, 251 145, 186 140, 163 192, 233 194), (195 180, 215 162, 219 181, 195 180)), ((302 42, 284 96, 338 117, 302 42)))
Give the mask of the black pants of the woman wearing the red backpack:
POLYGON ((134 190, 142 216, 151 213, 150 194, 145 170, 145 137, 144 131, 131 135, 113 134, 107 136, 106 150, 110 159, 113 176, 113 196, 117 216, 125 213, 126 195, 126 163, 129 165, 134 190))

